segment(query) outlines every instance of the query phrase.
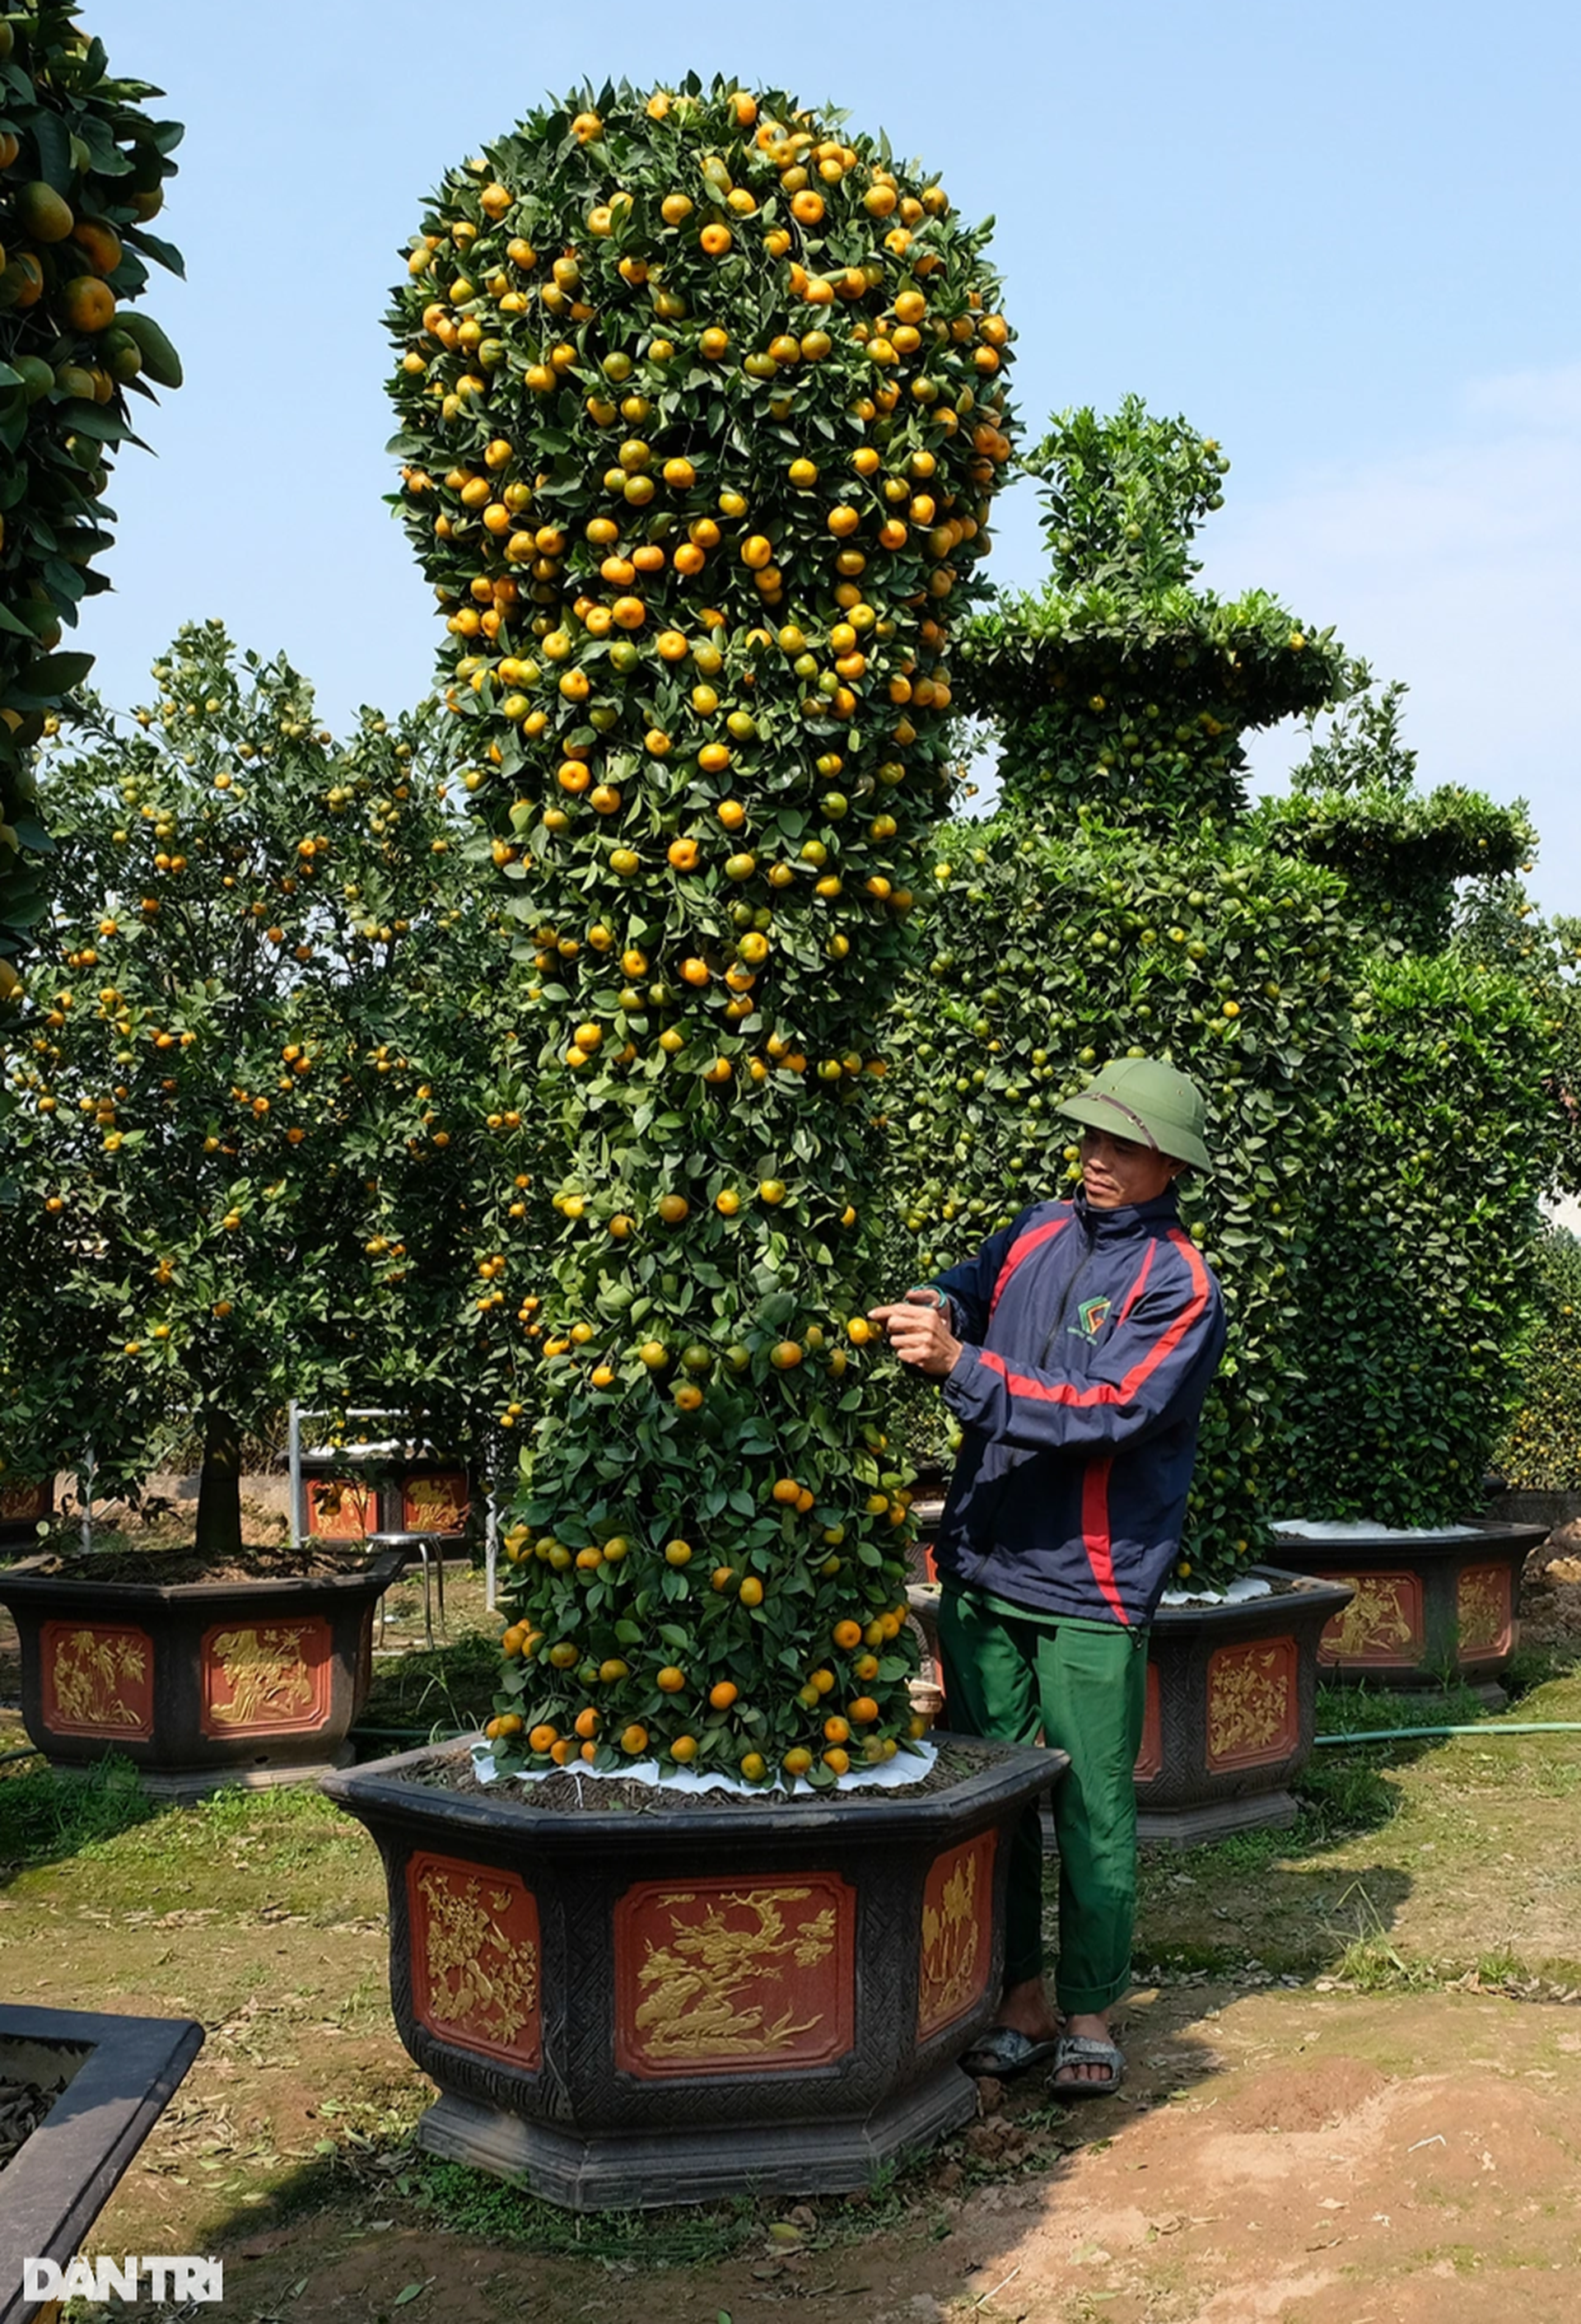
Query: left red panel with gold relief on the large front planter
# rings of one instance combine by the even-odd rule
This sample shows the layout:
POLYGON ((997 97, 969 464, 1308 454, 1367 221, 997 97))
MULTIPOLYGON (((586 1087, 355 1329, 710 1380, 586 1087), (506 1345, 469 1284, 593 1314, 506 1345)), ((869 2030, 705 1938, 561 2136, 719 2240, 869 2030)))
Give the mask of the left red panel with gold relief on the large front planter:
POLYGON ((544 2057, 537 1901, 516 1873, 407 1859, 412 2008, 458 2050, 535 2073, 544 2057))

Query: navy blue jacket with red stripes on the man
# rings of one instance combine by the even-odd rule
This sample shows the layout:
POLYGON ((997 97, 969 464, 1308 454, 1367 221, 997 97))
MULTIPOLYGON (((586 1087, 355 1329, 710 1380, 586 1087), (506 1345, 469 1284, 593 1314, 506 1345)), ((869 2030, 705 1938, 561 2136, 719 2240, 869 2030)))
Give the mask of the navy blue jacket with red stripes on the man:
POLYGON ((942 1576, 1037 1613, 1153 1620, 1181 1545, 1223 1299, 1174 1190, 1039 1202, 937 1278, 965 1341, 942 1576))

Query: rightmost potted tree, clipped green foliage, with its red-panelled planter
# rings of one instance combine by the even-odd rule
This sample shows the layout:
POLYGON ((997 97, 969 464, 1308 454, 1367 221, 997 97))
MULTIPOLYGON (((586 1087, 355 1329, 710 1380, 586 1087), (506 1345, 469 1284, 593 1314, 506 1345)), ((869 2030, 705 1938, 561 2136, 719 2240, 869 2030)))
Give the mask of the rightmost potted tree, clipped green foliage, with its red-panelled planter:
POLYGON ((1541 1525, 1486 1520, 1535 1301, 1539 1197, 1574 1178, 1574 930, 1518 871, 1523 806, 1421 790, 1404 686, 1351 702, 1262 811, 1335 869, 1358 925, 1355 1048, 1314 1171, 1307 1392, 1288 1415, 1281 1555, 1353 1590, 1323 1636, 1344 1685, 1502 1703, 1541 1525))

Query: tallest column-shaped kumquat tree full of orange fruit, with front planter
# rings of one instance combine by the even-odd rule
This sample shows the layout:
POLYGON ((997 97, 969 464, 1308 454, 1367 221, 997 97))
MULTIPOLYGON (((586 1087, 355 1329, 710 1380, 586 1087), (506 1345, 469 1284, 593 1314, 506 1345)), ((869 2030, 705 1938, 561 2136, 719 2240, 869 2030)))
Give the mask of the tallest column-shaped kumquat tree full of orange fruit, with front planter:
POLYGON ((1009 332, 942 186, 728 81, 530 114, 444 179, 391 323, 565 1164, 500 1281, 539 1334, 512 1780, 328 1787, 386 1857, 425 2145, 588 2205, 849 2187, 974 2106, 1000 1834, 1053 1773, 911 1752, 865 1322, 1009 332))

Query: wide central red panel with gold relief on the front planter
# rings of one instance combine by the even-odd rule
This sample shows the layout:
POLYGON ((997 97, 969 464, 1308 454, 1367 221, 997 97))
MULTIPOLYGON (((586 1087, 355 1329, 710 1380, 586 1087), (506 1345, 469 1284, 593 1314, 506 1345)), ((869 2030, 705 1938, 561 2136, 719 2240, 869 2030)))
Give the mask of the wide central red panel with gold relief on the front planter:
POLYGON ((646 1880, 614 1910, 616 2064, 674 2073, 828 2066, 851 2047, 856 1892, 793 1880, 646 1880))

